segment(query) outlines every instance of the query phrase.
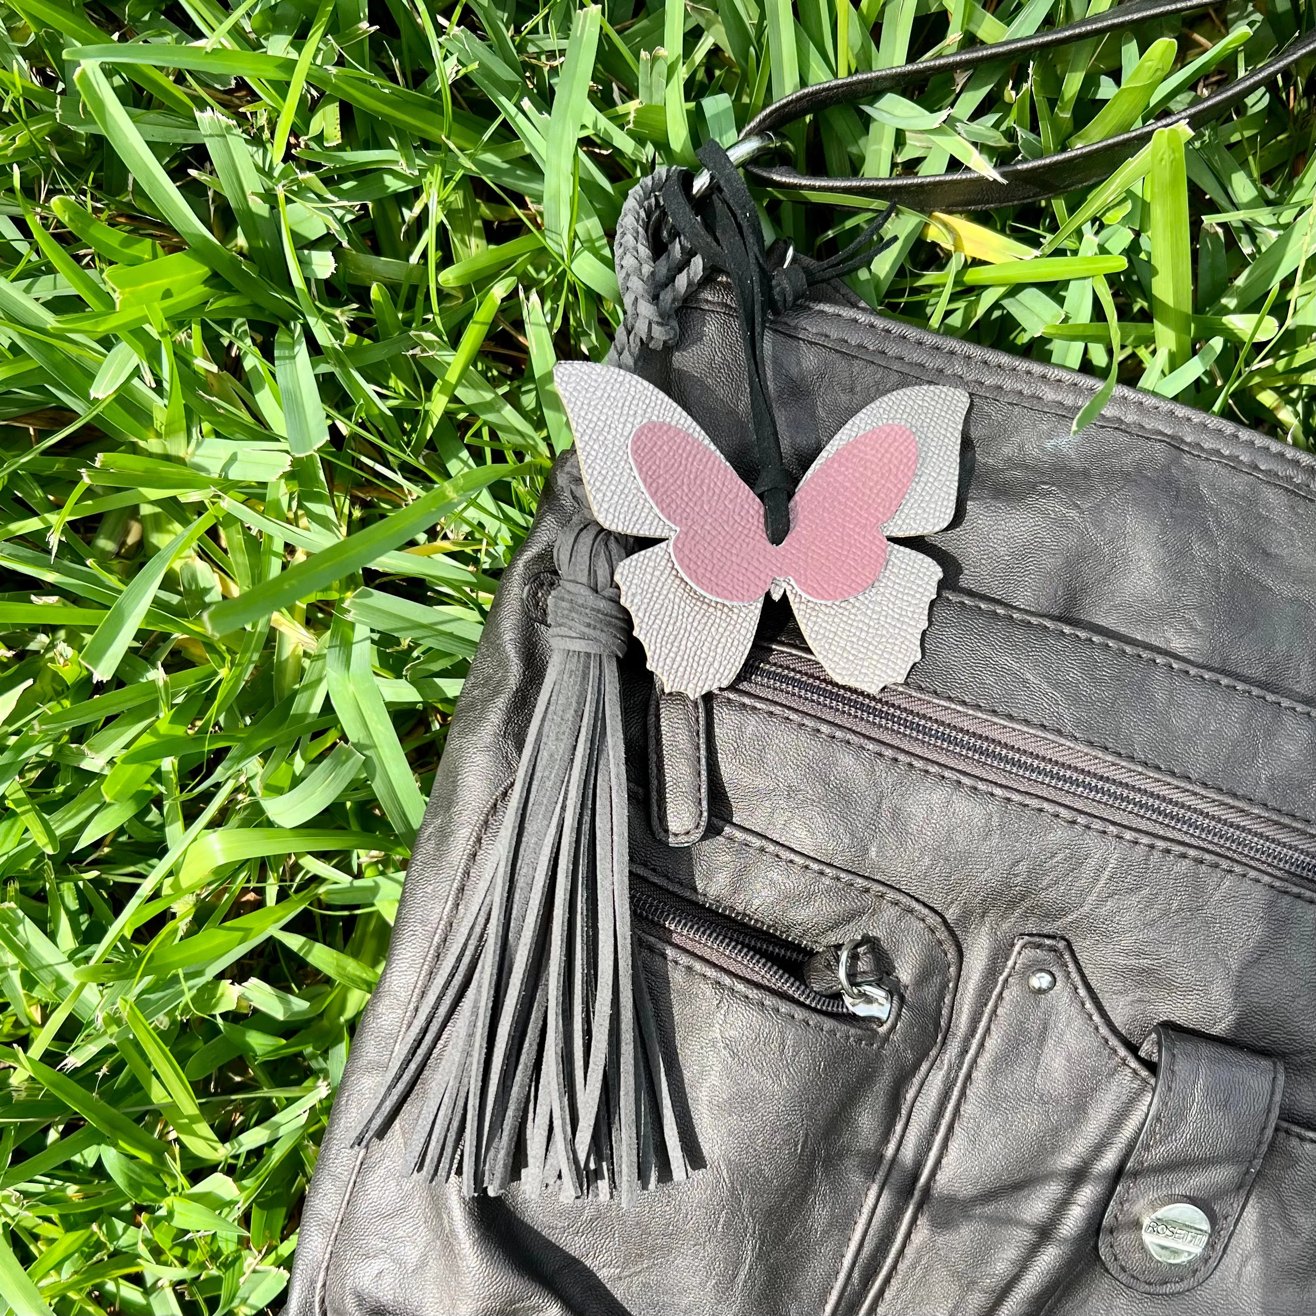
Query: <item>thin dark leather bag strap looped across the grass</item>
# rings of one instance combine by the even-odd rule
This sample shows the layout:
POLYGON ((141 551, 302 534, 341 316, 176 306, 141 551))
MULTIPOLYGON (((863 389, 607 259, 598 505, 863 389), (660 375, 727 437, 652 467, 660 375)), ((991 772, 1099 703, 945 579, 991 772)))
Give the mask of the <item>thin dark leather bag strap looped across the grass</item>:
MULTIPOLYGON (((970 50, 936 59, 924 59, 899 68, 879 68, 874 72, 837 78, 832 82, 804 87, 763 109, 741 134, 742 138, 762 136, 791 124, 805 114, 817 113, 832 105, 857 100, 871 100, 887 91, 921 83, 937 74, 958 74, 983 64, 1011 63, 1034 55, 1041 50, 1086 41, 1108 32, 1119 32, 1130 22, 1145 22, 1173 14, 1205 9, 1203 0, 1133 0, 1094 18, 1055 28, 1019 41, 1001 41, 992 46, 974 46, 970 50)), ((996 172, 998 183, 973 170, 954 174, 905 174, 896 178, 829 178, 817 174, 799 174, 786 166, 746 164, 746 172, 765 187, 792 191, 828 192, 837 196, 865 196, 884 201, 898 201, 915 211, 987 211, 1001 205, 1023 205, 1061 196, 1078 188, 1091 187, 1108 178, 1124 161, 1141 150, 1158 128, 1187 124, 1198 128, 1219 118, 1232 105, 1252 95, 1258 87, 1277 78, 1299 59, 1316 53, 1316 32, 1308 32, 1292 41, 1286 50, 1259 68, 1230 83, 1228 87, 1204 96, 1202 100, 1153 120, 1142 128, 1120 133, 1104 142, 1058 151, 1036 161, 1007 164, 996 172)))

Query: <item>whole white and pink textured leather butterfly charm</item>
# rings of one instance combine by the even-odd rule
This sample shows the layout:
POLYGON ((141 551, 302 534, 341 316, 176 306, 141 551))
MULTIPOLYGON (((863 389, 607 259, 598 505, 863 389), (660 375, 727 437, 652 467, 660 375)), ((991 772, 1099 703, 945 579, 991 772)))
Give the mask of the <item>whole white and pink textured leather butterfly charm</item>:
POLYGON ((774 545, 757 495, 661 390, 591 362, 563 362, 554 380, 595 519, 663 541, 628 557, 616 580, 665 690, 729 686, 765 595, 783 592, 834 680, 875 694, 904 679, 941 569, 890 541, 954 515, 966 392, 917 386, 865 407, 800 480, 774 545))

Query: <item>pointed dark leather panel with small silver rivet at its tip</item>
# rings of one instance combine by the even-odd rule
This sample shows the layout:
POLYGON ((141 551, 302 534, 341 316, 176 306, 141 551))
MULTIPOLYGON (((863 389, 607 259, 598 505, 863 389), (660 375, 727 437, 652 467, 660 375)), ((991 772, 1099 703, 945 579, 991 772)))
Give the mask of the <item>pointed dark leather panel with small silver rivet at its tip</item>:
POLYGON ((1040 1312, 1092 1248, 1150 1087, 1067 942, 1019 938, 866 1316, 1040 1312))

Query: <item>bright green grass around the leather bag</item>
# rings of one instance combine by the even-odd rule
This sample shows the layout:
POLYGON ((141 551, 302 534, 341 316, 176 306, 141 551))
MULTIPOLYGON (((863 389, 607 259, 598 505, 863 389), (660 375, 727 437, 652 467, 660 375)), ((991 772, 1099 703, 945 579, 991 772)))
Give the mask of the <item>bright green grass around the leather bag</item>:
MULTIPOLYGON (((569 442, 553 362, 619 316, 628 187, 794 87, 1065 7, 0 8, 0 1307, 276 1309, 453 703, 569 442)), ((990 168, 1311 22, 1230 4, 796 142, 990 168)), ((1308 72, 1088 196, 900 212, 854 287, 1305 445, 1308 72)), ((866 217, 765 201, 804 249, 866 217)))

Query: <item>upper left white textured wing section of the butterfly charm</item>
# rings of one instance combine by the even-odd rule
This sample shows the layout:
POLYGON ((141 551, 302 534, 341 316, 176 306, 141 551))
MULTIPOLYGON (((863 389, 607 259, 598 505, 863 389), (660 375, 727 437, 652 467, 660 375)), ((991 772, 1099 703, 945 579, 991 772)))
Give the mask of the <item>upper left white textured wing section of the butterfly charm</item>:
POLYGON ((571 421, 580 475, 595 520, 617 534, 665 540, 672 526, 645 492, 630 459, 630 440, 650 421, 674 425, 715 453, 708 436, 661 388, 616 366, 563 361, 553 371, 571 421))

